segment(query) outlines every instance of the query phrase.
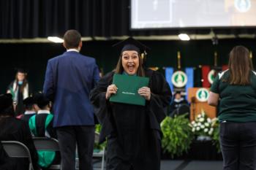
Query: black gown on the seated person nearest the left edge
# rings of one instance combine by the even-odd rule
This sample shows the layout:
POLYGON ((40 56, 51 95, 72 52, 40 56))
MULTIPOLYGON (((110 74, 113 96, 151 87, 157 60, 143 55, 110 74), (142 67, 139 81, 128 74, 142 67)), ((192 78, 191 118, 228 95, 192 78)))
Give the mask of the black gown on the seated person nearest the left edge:
MULTIPOLYGON (((18 141, 26 145, 29 148, 34 169, 38 169, 37 166, 37 151, 34 147, 34 142, 29 130, 29 125, 23 120, 18 120, 15 117, 1 117, 0 118, 0 139, 5 141, 18 141)), ((28 161, 23 161, 23 158, 19 158, 15 161, 19 170, 28 169, 28 161)))

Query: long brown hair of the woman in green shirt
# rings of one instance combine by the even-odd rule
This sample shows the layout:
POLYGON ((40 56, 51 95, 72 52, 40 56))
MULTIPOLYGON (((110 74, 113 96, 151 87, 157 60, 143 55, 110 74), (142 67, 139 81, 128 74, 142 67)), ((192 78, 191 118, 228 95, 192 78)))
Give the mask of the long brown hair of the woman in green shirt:
POLYGON ((231 85, 249 85, 251 83, 250 74, 253 66, 252 60, 249 58, 249 50, 246 47, 241 45, 233 47, 228 67, 230 69, 228 82, 231 85))

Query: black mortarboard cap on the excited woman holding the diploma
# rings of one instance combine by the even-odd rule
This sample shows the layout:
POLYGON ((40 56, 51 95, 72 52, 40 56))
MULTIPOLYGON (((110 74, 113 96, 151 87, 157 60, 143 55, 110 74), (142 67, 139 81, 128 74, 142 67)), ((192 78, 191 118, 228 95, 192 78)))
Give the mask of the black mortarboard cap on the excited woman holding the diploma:
POLYGON ((146 53, 146 50, 149 50, 149 47, 143 45, 141 42, 138 42, 136 39, 129 37, 128 39, 124 39, 121 42, 116 43, 112 47, 117 47, 118 50, 121 50, 123 53, 126 50, 135 50, 139 54, 146 53))

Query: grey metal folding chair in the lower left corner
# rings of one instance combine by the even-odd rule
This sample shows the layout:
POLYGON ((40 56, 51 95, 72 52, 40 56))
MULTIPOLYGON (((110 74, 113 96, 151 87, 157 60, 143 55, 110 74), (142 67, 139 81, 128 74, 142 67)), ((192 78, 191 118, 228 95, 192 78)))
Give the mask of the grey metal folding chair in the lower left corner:
POLYGON ((18 141, 1 141, 5 152, 12 158, 28 158, 29 170, 34 170, 31 160, 31 155, 28 147, 25 144, 18 141))

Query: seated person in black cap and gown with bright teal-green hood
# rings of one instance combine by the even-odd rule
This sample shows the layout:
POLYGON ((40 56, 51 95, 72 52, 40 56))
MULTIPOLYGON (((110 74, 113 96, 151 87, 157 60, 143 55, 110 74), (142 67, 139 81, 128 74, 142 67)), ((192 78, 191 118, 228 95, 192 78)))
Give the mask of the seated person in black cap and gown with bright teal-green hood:
MULTIPOLYGON (((34 95, 34 107, 37 115, 29 119, 29 128, 36 137, 57 138, 56 130, 53 128, 53 115, 50 113, 50 101, 42 93, 34 95)), ((60 162, 59 152, 38 151, 39 166, 47 169, 51 164, 60 162)))

